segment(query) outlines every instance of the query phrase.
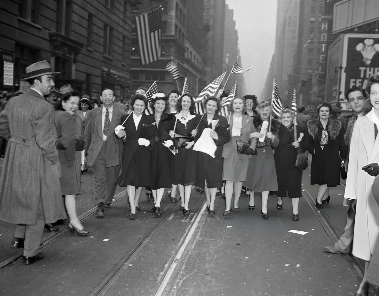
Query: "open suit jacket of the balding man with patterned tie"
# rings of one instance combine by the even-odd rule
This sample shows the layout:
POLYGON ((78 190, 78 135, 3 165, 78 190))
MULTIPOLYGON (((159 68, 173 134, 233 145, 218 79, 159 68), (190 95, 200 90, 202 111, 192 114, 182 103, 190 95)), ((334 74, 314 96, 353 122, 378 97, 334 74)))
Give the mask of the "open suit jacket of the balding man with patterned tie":
MULTIPOLYGON (((93 109, 87 117, 84 136, 86 140, 87 164, 93 165, 97 154, 99 154, 103 145, 103 129, 101 122, 103 107, 93 109)), ((121 125, 121 116, 126 112, 113 106, 111 124, 109 126, 108 136, 105 141, 105 166, 114 167, 121 164, 122 158, 122 139, 117 138, 114 129, 121 125)))

